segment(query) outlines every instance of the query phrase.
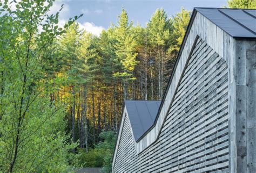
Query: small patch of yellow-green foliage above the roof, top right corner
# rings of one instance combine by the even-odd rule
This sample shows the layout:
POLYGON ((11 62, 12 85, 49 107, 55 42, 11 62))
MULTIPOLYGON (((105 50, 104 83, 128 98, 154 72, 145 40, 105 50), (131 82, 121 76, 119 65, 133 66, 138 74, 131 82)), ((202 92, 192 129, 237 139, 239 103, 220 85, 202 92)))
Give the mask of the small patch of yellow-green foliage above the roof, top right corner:
POLYGON ((255 0, 231 0, 227 1, 228 7, 233 9, 255 9, 255 0))

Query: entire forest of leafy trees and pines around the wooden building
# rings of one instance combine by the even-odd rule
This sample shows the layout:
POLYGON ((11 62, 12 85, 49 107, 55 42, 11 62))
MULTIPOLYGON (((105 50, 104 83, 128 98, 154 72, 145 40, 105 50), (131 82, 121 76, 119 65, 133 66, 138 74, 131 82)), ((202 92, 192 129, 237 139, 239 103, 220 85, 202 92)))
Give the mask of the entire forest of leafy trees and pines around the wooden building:
POLYGON ((97 37, 83 14, 60 27, 53 3, 0 1, 0 172, 111 172, 124 100, 161 100, 191 11, 156 9, 144 27, 122 8, 97 37))

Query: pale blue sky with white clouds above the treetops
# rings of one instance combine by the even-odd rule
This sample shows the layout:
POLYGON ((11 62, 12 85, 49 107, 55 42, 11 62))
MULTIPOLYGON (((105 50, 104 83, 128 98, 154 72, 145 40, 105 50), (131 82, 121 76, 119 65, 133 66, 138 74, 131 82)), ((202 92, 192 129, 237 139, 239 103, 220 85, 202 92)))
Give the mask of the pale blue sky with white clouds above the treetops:
POLYGON ((127 10, 129 20, 145 26, 157 8, 163 8, 169 17, 180 12, 181 7, 193 10, 194 7, 220 8, 227 0, 57 0, 52 12, 60 12, 59 25, 64 25, 70 17, 84 14, 77 21, 80 28, 95 35, 106 30, 111 23, 116 24, 122 7, 127 10))

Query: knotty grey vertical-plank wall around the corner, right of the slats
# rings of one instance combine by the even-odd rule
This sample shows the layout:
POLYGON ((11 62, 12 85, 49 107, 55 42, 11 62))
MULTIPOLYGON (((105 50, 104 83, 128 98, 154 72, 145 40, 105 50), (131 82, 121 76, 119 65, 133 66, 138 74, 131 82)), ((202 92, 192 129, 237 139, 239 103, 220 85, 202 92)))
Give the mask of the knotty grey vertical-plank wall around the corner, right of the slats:
POLYGON ((256 172, 256 41, 236 40, 230 69, 230 172, 256 172))

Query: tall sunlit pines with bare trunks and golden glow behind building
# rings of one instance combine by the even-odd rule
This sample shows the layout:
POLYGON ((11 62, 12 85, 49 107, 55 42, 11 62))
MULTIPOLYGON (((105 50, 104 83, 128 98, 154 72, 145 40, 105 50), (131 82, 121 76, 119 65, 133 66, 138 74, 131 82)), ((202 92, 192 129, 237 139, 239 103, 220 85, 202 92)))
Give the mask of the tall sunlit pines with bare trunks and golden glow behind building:
POLYGON ((103 130, 117 132, 124 99, 161 99, 189 18, 184 9, 174 18, 157 9, 146 27, 133 26, 122 9, 118 24, 99 37, 69 27, 57 40, 62 68, 55 71, 69 84, 52 100, 68 105, 74 142, 87 150, 103 130))

